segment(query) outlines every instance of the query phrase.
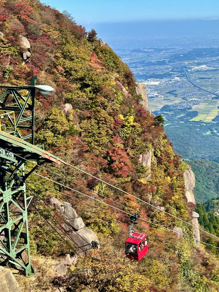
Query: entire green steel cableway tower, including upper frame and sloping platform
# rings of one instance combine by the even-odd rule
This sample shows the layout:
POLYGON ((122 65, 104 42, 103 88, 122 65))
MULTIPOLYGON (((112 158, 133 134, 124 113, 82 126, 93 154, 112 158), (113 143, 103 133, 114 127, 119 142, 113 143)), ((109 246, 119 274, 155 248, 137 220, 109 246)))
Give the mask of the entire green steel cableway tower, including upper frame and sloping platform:
POLYGON ((12 266, 27 277, 34 274, 34 269, 30 262, 27 220, 32 196, 27 196, 26 179, 45 162, 65 164, 34 146, 35 79, 30 86, 0 86, 4 90, 0 96, 0 110, 3 111, 0 119, 7 120, 4 130, 0 126, 0 265, 12 266), (26 97, 19 91, 27 93, 26 97), (9 112, 15 112, 14 121, 9 112), (6 129, 8 125, 11 130, 6 129), (19 128, 26 133, 29 131, 28 135, 22 136, 19 128), (25 141, 28 138, 31 143, 25 141), (29 171, 25 170, 27 161, 35 163, 28 167, 29 171))

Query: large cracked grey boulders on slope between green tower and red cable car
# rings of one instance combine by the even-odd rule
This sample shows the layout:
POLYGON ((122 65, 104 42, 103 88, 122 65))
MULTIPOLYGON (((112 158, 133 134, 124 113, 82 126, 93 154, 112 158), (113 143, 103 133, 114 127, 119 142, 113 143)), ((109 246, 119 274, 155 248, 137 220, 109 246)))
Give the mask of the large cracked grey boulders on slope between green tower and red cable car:
POLYGON ((58 207, 58 212, 65 222, 62 224, 63 228, 76 245, 77 253, 85 253, 91 250, 91 248, 100 247, 97 235, 85 226, 82 218, 78 217, 76 211, 69 203, 64 202, 62 204, 58 199, 52 197, 50 205, 58 207))

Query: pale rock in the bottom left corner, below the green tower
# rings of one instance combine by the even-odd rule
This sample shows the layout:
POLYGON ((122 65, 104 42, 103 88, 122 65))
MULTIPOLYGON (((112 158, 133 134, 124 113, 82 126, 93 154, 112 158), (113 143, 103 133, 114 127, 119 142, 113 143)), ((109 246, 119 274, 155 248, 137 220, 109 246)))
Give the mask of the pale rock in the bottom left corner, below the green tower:
POLYGON ((20 287, 11 270, 0 267, 1 292, 20 292, 20 287))

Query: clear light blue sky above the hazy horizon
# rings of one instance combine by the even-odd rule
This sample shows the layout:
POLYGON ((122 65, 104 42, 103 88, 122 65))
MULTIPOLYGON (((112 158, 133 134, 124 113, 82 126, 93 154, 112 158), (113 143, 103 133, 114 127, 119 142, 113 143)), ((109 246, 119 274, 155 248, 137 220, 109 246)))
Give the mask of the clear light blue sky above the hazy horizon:
POLYGON ((130 22, 219 18, 218 0, 48 0, 44 3, 67 10, 77 23, 130 22))

